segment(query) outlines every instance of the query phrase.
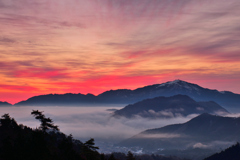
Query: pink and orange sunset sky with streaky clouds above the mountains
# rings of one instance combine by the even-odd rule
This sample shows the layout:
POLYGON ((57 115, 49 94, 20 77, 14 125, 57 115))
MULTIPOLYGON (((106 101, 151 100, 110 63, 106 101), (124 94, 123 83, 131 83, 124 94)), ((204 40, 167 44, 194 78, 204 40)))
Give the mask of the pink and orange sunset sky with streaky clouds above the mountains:
POLYGON ((0 0, 0 101, 175 79, 240 93, 239 0, 0 0))

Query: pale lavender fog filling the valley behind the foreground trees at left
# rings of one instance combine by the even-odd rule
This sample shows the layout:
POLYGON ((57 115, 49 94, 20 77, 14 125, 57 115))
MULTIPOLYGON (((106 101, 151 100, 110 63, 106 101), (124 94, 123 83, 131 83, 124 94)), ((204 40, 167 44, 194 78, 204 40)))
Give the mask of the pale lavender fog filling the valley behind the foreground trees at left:
MULTIPOLYGON (((123 107, 123 106, 122 106, 123 107)), ((197 115, 186 118, 173 119, 135 119, 111 117, 113 111, 109 109, 121 109, 122 107, 1 107, 0 114, 9 113, 18 124, 36 128, 40 122, 35 120, 31 111, 44 111, 46 117, 50 117, 60 131, 74 138, 86 141, 89 138, 96 140, 96 145, 104 143, 117 143, 130 138, 146 129, 159 128, 169 124, 184 123, 197 115)))

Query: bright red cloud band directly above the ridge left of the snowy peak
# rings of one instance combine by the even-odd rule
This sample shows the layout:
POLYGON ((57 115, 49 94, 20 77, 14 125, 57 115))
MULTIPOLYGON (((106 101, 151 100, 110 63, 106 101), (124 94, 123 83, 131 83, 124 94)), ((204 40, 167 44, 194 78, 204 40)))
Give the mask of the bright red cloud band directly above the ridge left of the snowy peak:
MULTIPOLYGON (((162 81, 162 79, 161 79, 162 81)), ((110 89, 135 89, 146 84, 160 83, 160 78, 154 75, 146 76, 114 76, 106 75, 87 79, 83 82, 56 82, 51 86, 60 86, 58 93, 93 93, 100 94, 110 89)), ((52 91, 52 90, 51 90, 52 91)), ((55 90, 56 91, 56 90, 55 90)))

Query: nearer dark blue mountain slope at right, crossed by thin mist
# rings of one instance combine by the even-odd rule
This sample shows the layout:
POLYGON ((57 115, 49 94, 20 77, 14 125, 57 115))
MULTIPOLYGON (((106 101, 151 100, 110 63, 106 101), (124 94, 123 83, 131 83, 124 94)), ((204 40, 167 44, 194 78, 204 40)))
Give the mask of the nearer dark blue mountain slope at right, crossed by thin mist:
POLYGON ((149 129, 120 143, 148 150, 220 148, 240 140, 240 118, 203 113, 183 124, 149 129))

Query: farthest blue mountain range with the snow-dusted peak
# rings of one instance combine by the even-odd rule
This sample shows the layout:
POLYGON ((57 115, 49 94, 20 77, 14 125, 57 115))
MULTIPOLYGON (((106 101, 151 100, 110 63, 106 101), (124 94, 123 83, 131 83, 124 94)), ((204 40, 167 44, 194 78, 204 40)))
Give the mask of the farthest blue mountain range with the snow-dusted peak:
POLYGON ((135 90, 118 89, 103 92, 97 96, 93 94, 48 94, 40 95, 21 101, 16 106, 71 106, 71 105, 99 105, 99 104, 132 104, 144 99, 188 95, 195 101, 215 101, 224 107, 234 107, 240 104, 240 94, 211 90, 181 80, 170 81, 137 88, 135 90))

